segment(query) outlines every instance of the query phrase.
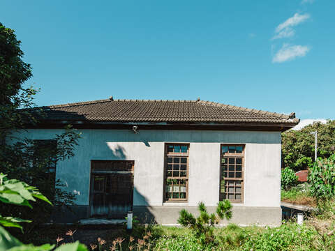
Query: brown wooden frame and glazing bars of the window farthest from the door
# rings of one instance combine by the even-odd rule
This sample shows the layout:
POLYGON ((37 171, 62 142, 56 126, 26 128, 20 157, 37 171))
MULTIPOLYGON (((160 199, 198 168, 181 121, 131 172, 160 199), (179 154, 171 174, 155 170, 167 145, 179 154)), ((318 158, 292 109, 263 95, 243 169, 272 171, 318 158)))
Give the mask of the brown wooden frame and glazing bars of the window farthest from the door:
MULTIPOLYGON (((244 203, 244 173, 245 173, 245 151, 246 151, 246 145, 245 144, 221 144, 220 145, 220 177, 219 177, 219 200, 223 200, 223 199, 228 199, 228 196, 227 197, 224 197, 225 193, 224 192, 221 192, 221 181, 224 181, 224 185, 226 183, 226 181, 241 181, 241 199, 228 199, 229 201, 233 202, 233 203, 244 203), (222 149, 223 149, 223 146, 228 146, 228 149, 229 149, 229 146, 242 146, 242 152, 241 153, 229 153, 229 150, 228 150, 228 153, 223 153, 222 152, 222 149), (237 163, 234 162, 234 166, 235 166, 235 169, 234 169, 234 176, 235 178, 228 178, 228 177, 224 177, 223 175, 223 162, 222 162, 222 159, 223 158, 228 158, 228 169, 229 169, 229 158, 241 158, 242 161, 241 161, 241 178, 236 178, 236 165, 237 163)), ((229 175, 229 174, 228 174, 229 175)), ((226 189, 228 187, 228 185, 226 186, 225 185, 225 188, 226 189)), ((230 186, 230 188, 234 188, 234 195, 235 195, 235 188, 236 188, 236 185, 234 186, 230 186)))

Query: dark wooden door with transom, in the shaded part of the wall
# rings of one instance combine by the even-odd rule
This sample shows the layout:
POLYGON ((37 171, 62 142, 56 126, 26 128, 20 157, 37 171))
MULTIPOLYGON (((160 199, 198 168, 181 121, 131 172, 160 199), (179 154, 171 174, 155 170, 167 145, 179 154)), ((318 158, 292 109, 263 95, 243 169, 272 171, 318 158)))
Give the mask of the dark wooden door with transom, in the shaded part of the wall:
POLYGON ((90 216, 125 218, 133 210, 133 161, 91 162, 90 216))

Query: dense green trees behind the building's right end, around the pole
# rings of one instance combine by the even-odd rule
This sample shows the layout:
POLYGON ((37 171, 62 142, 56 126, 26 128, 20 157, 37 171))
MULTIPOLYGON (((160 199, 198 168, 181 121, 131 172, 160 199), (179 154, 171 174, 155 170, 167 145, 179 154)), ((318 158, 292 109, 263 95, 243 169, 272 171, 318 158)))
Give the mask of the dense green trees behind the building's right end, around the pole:
POLYGON ((318 157, 329 158, 335 152, 335 120, 326 124, 315 122, 301 130, 282 133, 282 160, 284 167, 296 172, 311 167, 314 160, 314 135, 318 131, 318 157))

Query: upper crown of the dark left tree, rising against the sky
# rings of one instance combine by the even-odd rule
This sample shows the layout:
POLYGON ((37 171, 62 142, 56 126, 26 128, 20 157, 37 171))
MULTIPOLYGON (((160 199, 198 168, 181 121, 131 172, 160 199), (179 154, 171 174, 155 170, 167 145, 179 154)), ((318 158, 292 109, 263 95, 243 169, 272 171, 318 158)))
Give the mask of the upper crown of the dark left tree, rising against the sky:
POLYGON ((34 121, 27 111, 17 108, 31 107, 36 90, 24 88, 23 84, 31 76, 31 66, 24 63, 24 53, 20 49, 13 29, 0 23, 0 143, 13 128, 21 128, 24 121, 34 121))

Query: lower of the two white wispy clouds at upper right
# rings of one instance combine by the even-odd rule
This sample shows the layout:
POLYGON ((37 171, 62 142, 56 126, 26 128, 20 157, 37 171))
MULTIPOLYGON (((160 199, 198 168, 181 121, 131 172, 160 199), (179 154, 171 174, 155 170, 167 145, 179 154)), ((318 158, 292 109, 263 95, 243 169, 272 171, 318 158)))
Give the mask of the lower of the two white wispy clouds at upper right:
POLYGON ((278 50, 278 52, 274 55, 272 63, 283 63, 285 61, 293 60, 296 57, 306 56, 309 50, 311 50, 311 47, 309 46, 289 45, 284 43, 281 50, 278 50))

